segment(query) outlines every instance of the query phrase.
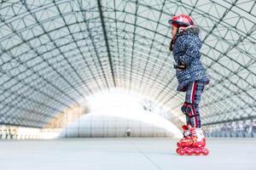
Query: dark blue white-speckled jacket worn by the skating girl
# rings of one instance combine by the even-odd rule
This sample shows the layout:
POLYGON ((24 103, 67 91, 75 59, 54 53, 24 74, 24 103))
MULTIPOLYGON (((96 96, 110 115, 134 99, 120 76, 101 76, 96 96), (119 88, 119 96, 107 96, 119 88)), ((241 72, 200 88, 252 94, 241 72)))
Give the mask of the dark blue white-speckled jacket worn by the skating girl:
POLYGON ((187 65, 185 70, 177 69, 176 71, 177 91, 186 91, 189 82, 210 82, 210 78, 200 61, 201 40, 198 34, 199 28, 195 26, 182 28, 177 33, 172 54, 177 65, 181 63, 187 65))

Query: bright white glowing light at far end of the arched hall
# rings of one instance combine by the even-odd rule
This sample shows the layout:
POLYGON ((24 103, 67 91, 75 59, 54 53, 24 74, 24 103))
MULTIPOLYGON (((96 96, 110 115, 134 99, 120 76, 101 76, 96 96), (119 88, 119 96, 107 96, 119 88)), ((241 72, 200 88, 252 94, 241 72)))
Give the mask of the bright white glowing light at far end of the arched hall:
POLYGON ((172 122, 159 116, 160 111, 145 111, 143 101, 145 98, 139 94, 127 92, 125 89, 111 89, 90 96, 88 104, 91 115, 123 117, 138 122, 145 122, 155 127, 161 127, 173 133, 174 138, 180 137, 178 128, 172 122))

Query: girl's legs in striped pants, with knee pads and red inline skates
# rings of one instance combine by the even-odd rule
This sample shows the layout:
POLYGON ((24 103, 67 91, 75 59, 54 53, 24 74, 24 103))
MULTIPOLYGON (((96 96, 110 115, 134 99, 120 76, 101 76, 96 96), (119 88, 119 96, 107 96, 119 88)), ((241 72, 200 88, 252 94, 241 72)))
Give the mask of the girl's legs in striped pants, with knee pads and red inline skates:
POLYGON ((205 148, 206 138, 201 130, 199 114, 199 103, 204 87, 205 82, 191 82, 188 85, 186 100, 181 109, 186 115, 188 125, 192 127, 183 126, 183 129, 188 129, 189 135, 184 135, 184 138, 177 143, 177 154, 181 156, 184 154, 207 156, 209 154, 209 150, 205 148))

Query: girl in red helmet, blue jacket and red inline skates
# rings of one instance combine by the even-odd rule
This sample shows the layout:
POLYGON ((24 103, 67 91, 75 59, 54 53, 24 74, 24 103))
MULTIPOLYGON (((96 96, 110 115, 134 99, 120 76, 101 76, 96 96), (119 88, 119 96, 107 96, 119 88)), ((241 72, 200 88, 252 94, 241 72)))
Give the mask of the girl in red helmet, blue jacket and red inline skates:
POLYGON ((170 50, 176 62, 174 68, 178 82, 177 91, 186 92, 181 111, 186 116, 187 125, 182 127, 184 138, 177 143, 177 153, 207 155, 206 139, 201 130, 199 102, 210 79, 200 61, 199 28, 186 14, 173 16, 169 23, 172 25, 170 50))

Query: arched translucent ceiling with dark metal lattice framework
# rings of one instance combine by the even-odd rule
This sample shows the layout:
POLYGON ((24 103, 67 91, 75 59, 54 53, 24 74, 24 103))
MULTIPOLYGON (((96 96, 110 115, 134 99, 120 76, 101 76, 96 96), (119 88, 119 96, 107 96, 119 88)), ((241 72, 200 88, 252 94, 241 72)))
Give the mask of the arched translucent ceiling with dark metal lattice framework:
POLYGON ((126 88, 179 113, 168 50, 173 14, 201 29, 211 77, 205 125, 256 116, 254 0, 47 0, 0 3, 0 124, 43 127, 106 88, 126 88))

